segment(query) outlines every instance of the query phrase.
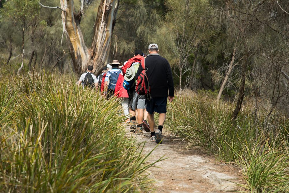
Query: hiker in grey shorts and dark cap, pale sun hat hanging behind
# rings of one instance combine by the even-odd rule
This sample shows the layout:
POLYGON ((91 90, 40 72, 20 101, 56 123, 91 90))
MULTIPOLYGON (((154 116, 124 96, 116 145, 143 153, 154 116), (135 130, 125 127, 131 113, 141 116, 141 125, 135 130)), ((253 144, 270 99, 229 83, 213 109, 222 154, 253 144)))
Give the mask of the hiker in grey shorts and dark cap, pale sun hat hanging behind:
POLYGON ((143 123, 147 125, 147 113, 145 113, 145 100, 144 96, 136 93, 136 71, 140 65, 140 61, 143 59, 143 53, 141 50, 136 50, 134 57, 130 58, 128 62, 123 66, 124 76, 124 87, 127 89, 129 96, 129 110, 130 110, 130 132, 136 133, 137 135, 143 134, 142 126, 143 123), (136 122, 136 109, 138 113, 138 122, 136 122))

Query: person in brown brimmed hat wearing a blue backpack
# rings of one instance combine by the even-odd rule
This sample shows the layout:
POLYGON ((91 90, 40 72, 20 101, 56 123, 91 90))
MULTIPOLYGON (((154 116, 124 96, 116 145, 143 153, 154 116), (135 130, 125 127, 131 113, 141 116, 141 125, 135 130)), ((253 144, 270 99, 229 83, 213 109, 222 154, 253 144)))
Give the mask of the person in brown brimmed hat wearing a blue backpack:
POLYGON ((118 66, 122 63, 119 63, 118 60, 113 60, 110 64, 112 69, 106 73, 104 79, 104 91, 103 94, 107 98, 111 98, 114 95, 115 85, 118 79, 118 76, 121 73, 121 70, 118 69, 118 66))

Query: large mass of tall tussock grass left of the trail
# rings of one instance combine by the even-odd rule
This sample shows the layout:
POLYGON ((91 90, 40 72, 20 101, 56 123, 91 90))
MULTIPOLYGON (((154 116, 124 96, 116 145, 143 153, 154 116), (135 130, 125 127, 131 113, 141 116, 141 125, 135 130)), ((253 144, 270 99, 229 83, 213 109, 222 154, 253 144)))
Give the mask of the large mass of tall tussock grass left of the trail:
POLYGON ((138 192, 149 182, 118 101, 42 72, 0 83, 0 192, 138 192))

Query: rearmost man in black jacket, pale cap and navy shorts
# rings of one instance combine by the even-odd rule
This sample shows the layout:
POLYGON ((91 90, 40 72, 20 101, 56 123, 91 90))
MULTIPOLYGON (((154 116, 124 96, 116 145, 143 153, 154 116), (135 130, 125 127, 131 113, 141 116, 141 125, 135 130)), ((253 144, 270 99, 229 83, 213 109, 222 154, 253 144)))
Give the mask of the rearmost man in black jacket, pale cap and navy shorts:
MULTIPOLYGON (((149 113, 149 126, 151 138, 149 141, 161 143, 162 129, 166 120, 167 99, 174 100, 174 82, 171 66, 168 60, 158 54, 157 44, 149 45, 149 54, 144 59, 144 66, 147 69, 146 75, 150 86, 151 100, 145 99, 146 109, 149 113), (158 129, 155 129, 154 112, 159 113, 158 129)), ((136 77, 140 76, 143 68, 139 66, 136 77)))

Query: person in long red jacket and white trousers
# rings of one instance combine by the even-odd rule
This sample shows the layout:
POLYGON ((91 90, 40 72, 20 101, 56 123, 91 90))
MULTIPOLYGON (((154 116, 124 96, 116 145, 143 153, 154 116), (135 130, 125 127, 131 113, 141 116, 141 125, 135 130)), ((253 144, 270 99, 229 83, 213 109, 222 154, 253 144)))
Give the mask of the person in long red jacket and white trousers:
POLYGON ((121 106, 123 107, 123 113, 125 115, 126 123, 130 121, 129 119, 129 108, 128 108, 128 94, 123 87, 123 72, 118 76, 118 80, 115 85, 114 96, 121 98, 121 106))

